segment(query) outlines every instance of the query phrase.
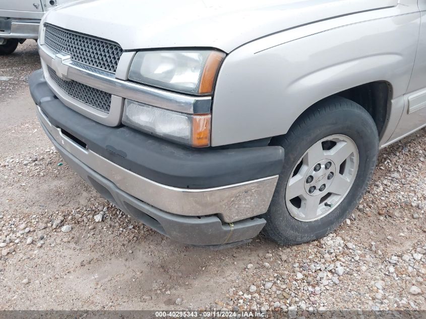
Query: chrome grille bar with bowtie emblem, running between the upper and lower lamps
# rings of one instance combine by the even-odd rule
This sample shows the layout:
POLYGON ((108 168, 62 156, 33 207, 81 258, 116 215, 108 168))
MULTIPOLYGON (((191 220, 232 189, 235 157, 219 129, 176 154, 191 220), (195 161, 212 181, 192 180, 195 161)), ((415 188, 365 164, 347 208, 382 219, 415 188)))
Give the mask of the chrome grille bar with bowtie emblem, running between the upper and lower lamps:
MULTIPOLYGON (((84 66, 71 59, 58 61, 56 53, 45 44, 38 44, 38 49, 40 57, 46 65, 55 70, 56 73, 60 72, 60 76, 64 76, 70 80, 83 83, 111 93, 112 95, 173 111, 196 114, 210 113, 211 97, 187 96, 119 80, 114 74, 84 66)), ((123 77, 124 75, 120 74, 119 76, 123 77)))

